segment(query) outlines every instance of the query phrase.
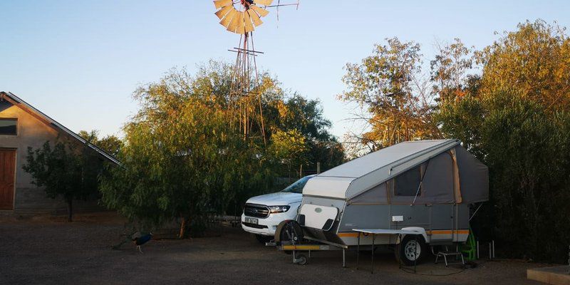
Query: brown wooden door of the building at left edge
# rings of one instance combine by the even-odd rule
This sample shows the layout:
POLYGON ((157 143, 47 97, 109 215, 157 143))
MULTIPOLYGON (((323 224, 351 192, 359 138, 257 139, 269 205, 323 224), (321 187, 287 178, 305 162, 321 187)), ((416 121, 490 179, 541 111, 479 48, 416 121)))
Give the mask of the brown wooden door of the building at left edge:
POLYGON ((16 150, 0 150, 0 209, 14 209, 16 150))

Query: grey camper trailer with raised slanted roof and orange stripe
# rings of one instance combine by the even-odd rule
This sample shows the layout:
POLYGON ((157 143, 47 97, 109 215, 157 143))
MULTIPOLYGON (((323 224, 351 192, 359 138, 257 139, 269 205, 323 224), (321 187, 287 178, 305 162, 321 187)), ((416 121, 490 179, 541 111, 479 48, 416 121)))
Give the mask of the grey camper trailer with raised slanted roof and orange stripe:
POLYGON ((396 257, 415 264, 427 246, 467 240, 470 205, 487 201, 488 188, 487 166, 459 140, 401 142, 309 180, 296 221, 275 238, 296 249, 395 244, 396 257))

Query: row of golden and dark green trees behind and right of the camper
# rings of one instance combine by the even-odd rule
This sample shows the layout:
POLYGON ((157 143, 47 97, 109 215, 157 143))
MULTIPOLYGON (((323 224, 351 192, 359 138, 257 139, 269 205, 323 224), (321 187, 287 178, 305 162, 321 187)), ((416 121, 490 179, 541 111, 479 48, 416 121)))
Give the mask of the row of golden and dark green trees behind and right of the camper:
MULTIPOLYGON (((570 40, 544 21, 476 51, 438 45, 422 70, 415 43, 388 40, 347 66, 340 97, 370 128, 356 145, 458 138, 489 166, 490 201, 472 226, 505 257, 562 261, 570 244, 570 40)), ((373 147, 371 147, 371 145, 373 147)), ((362 148, 356 148, 362 150, 362 148)))

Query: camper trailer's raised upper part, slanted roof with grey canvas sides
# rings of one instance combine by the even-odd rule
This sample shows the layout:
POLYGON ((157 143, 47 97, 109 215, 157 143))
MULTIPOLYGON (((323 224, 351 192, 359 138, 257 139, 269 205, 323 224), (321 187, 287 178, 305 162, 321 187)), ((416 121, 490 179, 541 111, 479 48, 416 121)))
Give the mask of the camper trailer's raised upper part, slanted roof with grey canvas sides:
POLYGON ((303 192, 348 204, 474 203, 488 199, 488 170, 459 140, 402 142, 317 175, 303 192))

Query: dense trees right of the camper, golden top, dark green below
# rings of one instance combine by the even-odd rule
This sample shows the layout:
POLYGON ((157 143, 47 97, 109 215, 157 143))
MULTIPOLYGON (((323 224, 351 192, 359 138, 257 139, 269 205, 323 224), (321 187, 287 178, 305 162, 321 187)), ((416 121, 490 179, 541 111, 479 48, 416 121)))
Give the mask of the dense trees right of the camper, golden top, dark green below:
POLYGON ((508 257, 561 261, 570 243, 569 55, 564 29, 520 24, 477 52, 482 76, 435 115, 489 166, 491 201, 475 227, 508 257))

